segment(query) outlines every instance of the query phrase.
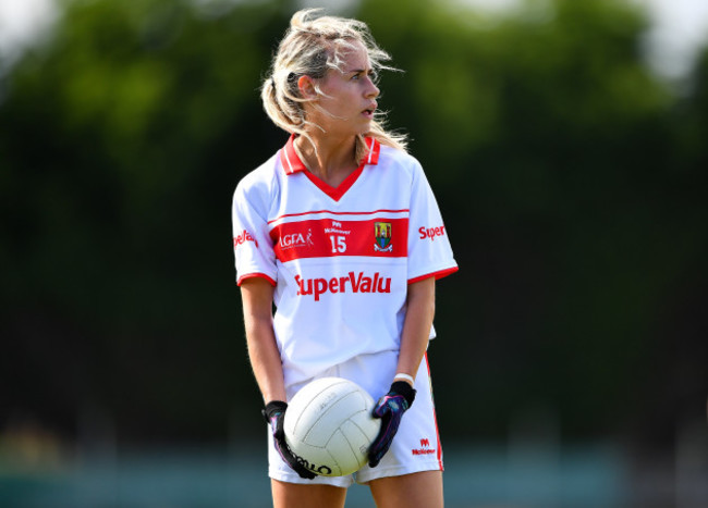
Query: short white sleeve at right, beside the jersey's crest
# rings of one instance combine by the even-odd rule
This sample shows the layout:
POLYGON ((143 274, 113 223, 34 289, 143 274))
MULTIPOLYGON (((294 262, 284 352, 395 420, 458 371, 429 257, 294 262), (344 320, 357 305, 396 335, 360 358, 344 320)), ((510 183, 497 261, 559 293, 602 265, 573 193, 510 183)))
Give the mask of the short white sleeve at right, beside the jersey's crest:
POLYGON ((457 271, 448 230, 420 164, 415 161, 408 220, 408 284, 457 271))

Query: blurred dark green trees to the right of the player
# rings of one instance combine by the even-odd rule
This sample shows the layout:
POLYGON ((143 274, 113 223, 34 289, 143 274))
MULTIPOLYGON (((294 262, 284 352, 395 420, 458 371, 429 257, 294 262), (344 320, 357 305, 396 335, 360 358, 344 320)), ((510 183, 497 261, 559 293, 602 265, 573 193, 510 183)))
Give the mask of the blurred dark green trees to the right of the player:
MULTIPOLYGON (((366 2, 362 16, 408 71, 384 98, 405 104, 391 121, 416 139, 462 267, 439 296, 452 344, 432 351, 466 359, 479 411, 441 424, 499 436, 538 405, 571 438, 647 429, 656 329, 676 318, 664 310, 676 282, 703 271, 706 206, 697 174, 667 193, 683 149, 674 92, 644 64, 646 16, 605 0, 530 1, 501 18, 413 3, 366 2), (672 213, 676 200, 693 215, 672 213)), ((459 369, 437 372, 460 383, 459 369)))

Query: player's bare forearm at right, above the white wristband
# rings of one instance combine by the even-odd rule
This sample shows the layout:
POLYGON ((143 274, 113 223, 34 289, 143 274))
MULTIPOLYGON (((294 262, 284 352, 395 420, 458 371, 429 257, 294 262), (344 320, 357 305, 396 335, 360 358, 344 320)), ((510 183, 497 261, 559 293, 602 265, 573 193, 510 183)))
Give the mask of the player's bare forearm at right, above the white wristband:
POLYGON ((428 336, 434 315, 435 277, 410 284, 396 374, 408 374, 415 379, 428 347, 428 336))

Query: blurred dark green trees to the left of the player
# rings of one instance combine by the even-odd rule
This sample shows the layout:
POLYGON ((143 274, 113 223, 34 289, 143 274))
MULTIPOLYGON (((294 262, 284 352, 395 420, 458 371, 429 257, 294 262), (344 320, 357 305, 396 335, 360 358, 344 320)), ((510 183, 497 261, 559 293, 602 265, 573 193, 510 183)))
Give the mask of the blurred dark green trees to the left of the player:
POLYGON ((66 2, 8 77, 3 373, 23 386, 9 408, 72 429, 99 405, 133 438, 227 432, 253 393, 230 200, 253 147, 284 138, 256 89, 292 10, 66 2))

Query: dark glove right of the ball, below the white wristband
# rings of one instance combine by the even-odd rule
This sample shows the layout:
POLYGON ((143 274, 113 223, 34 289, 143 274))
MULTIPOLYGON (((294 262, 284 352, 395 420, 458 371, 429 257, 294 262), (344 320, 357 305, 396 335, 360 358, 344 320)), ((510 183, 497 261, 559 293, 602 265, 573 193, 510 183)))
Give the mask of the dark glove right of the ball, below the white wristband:
POLYGON ((395 381, 388 394, 379 399, 371 411, 374 418, 381 419, 381 430, 369 447, 369 466, 376 468, 391 447, 393 436, 399 431, 403 413, 415 399, 415 389, 405 381, 395 381))

